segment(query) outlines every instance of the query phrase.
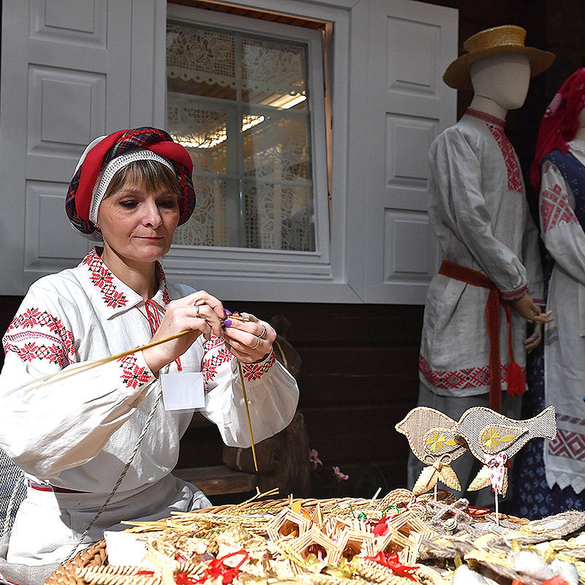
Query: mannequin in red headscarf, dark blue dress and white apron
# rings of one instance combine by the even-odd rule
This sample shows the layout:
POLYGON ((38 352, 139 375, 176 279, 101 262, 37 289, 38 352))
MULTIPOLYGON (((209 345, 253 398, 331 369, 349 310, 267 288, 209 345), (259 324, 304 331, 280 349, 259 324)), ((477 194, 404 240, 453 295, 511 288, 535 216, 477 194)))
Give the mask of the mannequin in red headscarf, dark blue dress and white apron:
MULTIPOLYGON (((539 194, 541 238, 552 259, 546 325, 544 390, 535 384, 534 414, 552 404, 555 441, 522 453, 522 504, 536 518, 585 505, 585 68, 575 71, 542 118, 530 179, 539 194)), ((542 380, 542 369, 541 369, 542 380)), ((531 413, 526 413, 528 416, 531 413)))

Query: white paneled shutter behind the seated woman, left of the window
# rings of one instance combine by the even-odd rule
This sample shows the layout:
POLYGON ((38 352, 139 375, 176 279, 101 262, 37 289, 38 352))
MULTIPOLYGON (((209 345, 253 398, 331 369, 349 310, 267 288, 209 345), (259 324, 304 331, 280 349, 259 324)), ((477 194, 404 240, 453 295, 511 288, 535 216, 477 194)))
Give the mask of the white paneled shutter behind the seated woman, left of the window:
POLYGON ((134 121, 152 123, 154 0, 2 5, 1 292, 22 294, 43 274, 77 264, 91 245, 64 212, 84 147, 134 121), (147 75, 131 87, 136 51, 147 75))

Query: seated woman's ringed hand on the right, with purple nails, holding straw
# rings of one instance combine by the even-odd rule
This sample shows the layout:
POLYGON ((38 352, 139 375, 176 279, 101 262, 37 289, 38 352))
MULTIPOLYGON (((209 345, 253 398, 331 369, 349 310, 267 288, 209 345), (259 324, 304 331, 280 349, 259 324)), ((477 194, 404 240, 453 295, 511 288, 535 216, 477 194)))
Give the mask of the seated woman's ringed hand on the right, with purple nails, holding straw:
POLYGON ((230 352, 242 363, 260 362, 272 351, 276 331, 249 313, 240 313, 246 321, 228 317, 223 321, 222 337, 230 352))

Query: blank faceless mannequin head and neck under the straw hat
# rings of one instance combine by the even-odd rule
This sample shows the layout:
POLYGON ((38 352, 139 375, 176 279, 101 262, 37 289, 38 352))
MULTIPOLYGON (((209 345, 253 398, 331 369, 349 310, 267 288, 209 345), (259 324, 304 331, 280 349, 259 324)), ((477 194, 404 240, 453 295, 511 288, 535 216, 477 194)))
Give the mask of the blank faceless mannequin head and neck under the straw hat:
POLYGON ((510 52, 490 55, 469 66, 474 98, 471 107, 505 118, 524 104, 530 84, 530 57, 510 52))

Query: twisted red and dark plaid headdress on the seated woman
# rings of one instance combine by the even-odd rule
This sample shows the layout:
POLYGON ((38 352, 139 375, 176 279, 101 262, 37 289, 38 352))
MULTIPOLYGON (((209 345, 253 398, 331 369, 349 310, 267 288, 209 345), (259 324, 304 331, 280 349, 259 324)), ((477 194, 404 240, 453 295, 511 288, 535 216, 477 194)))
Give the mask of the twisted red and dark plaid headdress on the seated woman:
POLYGON ((179 225, 190 218, 195 208, 190 154, 164 130, 143 127, 119 130, 94 140, 81 155, 65 200, 65 211, 74 228, 88 235, 95 231, 95 224, 90 221, 90 205, 99 173, 109 161, 135 150, 150 150, 171 164, 183 191, 183 197, 179 200, 179 225))

